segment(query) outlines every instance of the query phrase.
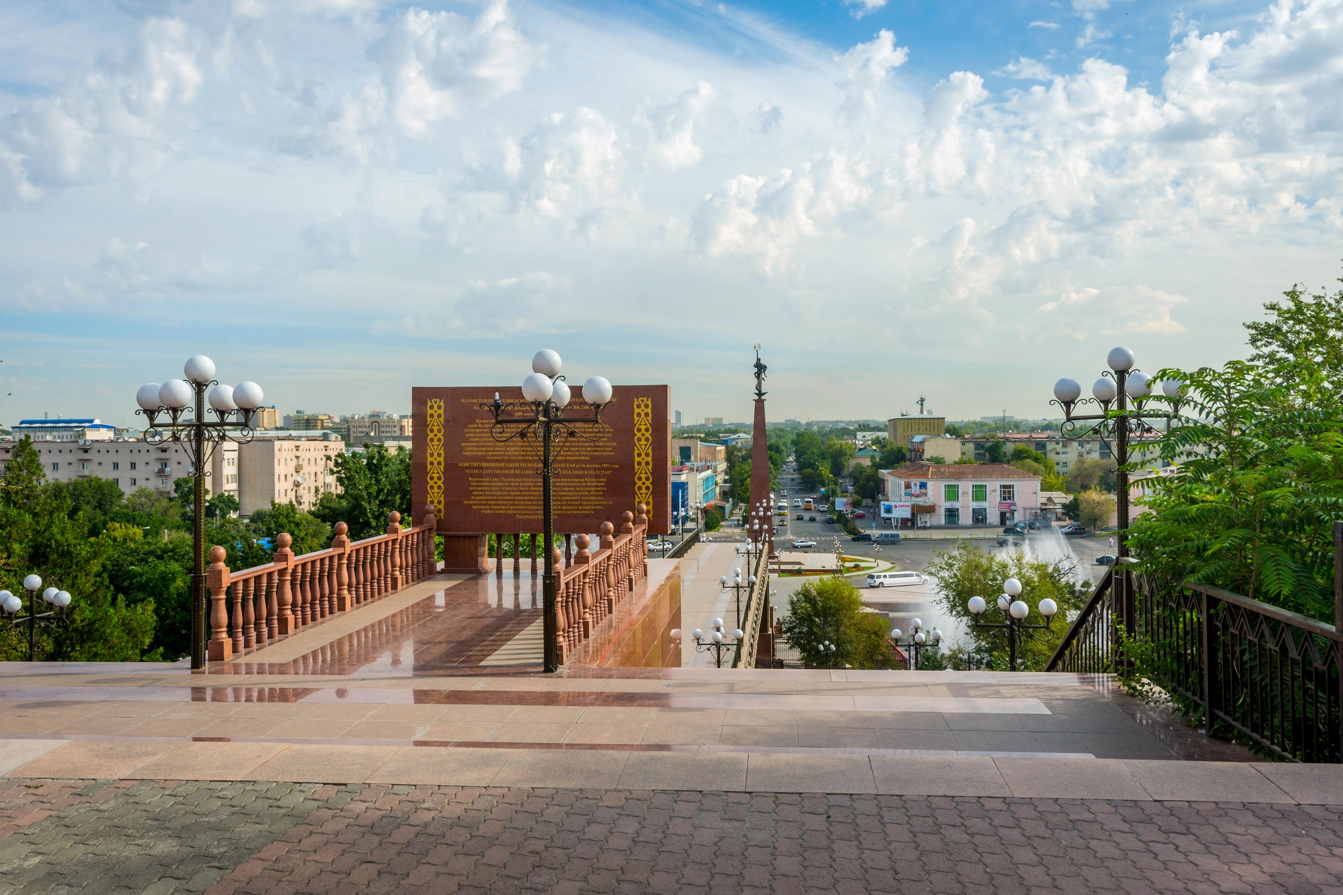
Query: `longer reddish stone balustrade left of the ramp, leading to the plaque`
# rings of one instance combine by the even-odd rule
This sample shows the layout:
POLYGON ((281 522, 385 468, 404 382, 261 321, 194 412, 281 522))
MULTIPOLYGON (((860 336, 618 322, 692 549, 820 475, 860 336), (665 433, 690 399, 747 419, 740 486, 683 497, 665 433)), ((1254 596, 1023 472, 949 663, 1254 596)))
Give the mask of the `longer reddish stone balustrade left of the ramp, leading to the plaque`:
POLYGON ((332 546, 294 556, 293 538, 275 538, 271 562, 232 572, 223 547, 210 551, 210 660, 252 652, 305 627, 432 576, 436 521, 403 529, 402 514, 387 517, 385 534, 351 541, 336 523, 332 546))

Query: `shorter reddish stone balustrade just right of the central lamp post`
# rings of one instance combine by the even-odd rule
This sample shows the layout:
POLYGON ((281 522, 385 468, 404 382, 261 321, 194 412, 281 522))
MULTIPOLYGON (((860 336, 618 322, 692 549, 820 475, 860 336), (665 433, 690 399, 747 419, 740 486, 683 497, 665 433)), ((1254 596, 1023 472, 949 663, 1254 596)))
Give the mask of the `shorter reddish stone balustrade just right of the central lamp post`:
POLYGON ((564 568, 560 549, 553 547, 561 664, 649 576, 647 530, 647 507, 641 503, 638 517, 626 510, 619 534, 610 522, 602 523, 595 551, 588 550, 588 535, 577 535, 577 551, 571 566, 564 568))

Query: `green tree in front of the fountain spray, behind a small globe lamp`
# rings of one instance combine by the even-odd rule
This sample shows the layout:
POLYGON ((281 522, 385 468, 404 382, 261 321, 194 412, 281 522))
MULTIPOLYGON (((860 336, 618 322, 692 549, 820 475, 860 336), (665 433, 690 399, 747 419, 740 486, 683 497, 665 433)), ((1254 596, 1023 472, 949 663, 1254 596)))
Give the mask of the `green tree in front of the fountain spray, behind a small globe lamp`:
POLYGON ((937 602, 948 616, 960 619, 970 632, 974 644, 970 652, 992 657, 997 668, 1007 667, 1007 635, 1002 631, 974 628, 967 604, 971 597, 983 597, 990 611, 986 621, 1002 621, 997 608, 1007 578, 1022 584, 1019 600, 1030 607, 1027 624, 1042 624, 1045 619, 1035 607, 1045 597, 1058 604, 1058 615, 1049 631, 1037 631, 1035 636, 1018 645, 1018 660, 1027 671, 1042 671, 1053 655, 1058 641, 1068 632, 1068 613, 1081 608, 1089 585, 1077 584, 1077 564, 1070 557, 1046 562, 1026 556, 1017 549, 1010 554, 988 553, 971 541, 958 541, 952 550, 939 550, 925 572, 937 581, 937 602))

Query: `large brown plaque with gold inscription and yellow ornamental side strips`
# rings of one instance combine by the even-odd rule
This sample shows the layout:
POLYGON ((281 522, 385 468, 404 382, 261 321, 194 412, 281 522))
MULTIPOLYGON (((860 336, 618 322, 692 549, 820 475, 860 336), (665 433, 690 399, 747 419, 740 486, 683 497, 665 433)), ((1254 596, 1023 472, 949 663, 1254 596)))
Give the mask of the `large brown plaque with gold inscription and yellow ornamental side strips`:
MULTIPOLYGON (((572 388, 579 404, 582 389, 572 388)), ((505 403, 522 400, 517 386, 411 389, 414 506, 434 505, 443 534, 541 531, 541 444, 490 437, 493 416, 479 405, 496 392, 505 403)), ((616 385, 602 411, 604 437, 556 445, 556 531, 619 526, 638 503, 649 507, 649 534, 672 530, 669 404, 667 385, 616 385)), ((576 417, 591 416, 587 405, 571 407, 576 417)))

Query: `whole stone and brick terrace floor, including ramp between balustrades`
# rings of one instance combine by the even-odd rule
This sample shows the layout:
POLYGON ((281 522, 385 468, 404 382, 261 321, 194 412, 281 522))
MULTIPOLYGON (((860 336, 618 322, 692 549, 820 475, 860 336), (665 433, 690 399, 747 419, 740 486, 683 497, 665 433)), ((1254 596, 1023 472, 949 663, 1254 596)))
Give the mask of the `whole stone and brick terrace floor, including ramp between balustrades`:
POLYGON ((521 584, 211 674, 0 666, 0 892, 1343 891, 1343 768, 1105 678, 478 664, 521 584))

